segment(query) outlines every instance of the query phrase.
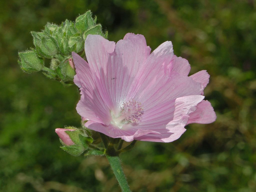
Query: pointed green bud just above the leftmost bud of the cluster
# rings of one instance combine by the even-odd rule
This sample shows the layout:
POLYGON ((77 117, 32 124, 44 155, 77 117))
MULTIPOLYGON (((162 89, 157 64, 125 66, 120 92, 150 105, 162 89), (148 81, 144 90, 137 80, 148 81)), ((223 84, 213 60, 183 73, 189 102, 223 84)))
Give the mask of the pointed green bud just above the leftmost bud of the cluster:
POLYGON ((51 59, 58 53, 56 40, 53 37, 48 36, 45 33, 34 31, 31 31, 31 34, 34 38, 34 45, 39 55, 51 59))

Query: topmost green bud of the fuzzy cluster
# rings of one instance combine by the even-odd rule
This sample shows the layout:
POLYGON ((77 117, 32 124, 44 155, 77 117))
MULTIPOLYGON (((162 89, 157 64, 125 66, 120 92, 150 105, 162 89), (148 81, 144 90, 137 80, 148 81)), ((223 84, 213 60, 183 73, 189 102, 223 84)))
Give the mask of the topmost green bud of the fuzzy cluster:
POLYGON ((85 14, 76 18, 76 28, 83 34, 86 30, 96 25, 96 20, 96 17, 95 19, 92 18, 91 11, 87 11, 85 14))

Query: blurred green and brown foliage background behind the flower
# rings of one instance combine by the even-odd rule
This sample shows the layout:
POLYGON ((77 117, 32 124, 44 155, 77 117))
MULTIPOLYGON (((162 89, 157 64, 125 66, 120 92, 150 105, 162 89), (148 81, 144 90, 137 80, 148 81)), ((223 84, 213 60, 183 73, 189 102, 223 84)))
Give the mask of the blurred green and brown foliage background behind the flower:
POLYGON ((154 50, 171 40, 191 73, 206 69, 215 123, 191 124, 172 143, 137 142, 121 155, 133 191, 256 190, 255 0, 0 1, 0 191, 120 191, 105 157, 62 151, 55 128, 79 126, 79 92, 23 73, 30 31, 91 10, 109 40, 143 34, 154 50))

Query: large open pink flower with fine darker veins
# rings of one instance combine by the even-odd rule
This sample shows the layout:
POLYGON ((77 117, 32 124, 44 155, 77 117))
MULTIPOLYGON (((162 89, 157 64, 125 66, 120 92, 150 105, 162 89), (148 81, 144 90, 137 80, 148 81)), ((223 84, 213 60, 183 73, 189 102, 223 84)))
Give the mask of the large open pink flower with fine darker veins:
POLYGON ((86 127, 125 141, 171 142, 189 123, 211 123, 215 112, 203 90, 209 74, 188 77, 190 65, 166 41, 150 54, 143 35, 128 33, 116 44, 88 35, 88 63, 72 53, 80 88, 77 112, 86 127))

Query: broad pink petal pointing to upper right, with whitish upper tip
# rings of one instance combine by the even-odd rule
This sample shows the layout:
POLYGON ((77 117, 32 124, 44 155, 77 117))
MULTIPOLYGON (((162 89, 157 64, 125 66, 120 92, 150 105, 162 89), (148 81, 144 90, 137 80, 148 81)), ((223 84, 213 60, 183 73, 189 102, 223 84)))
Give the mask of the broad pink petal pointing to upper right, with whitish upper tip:
MULTIPOLYGON (((203 90, 200 83, 175 71, 170 74, 166 73, 165 64, 171 63, 172 60, 172 43, 166 41, 147 58, 127 94, 127 98, 141 102, 145 109, 166 100, 187 95, 200 95, 203 90)), ((169 68, 171 69, 172 66, 169 68)))

